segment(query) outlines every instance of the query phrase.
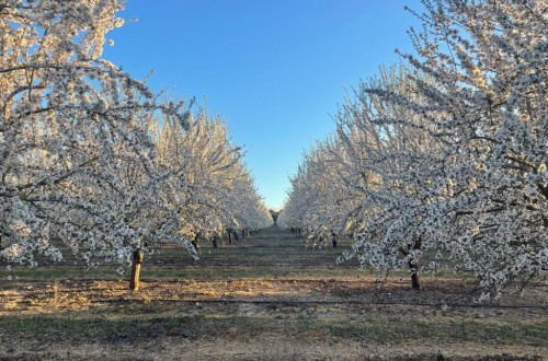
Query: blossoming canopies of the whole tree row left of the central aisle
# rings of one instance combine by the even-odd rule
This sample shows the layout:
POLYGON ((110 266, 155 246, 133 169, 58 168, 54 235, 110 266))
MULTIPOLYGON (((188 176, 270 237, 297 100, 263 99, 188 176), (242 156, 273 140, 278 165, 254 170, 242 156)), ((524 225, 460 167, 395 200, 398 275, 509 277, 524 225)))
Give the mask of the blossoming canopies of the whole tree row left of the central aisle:
POLYGON ((196 256, 198 232, 272 222, 220 119, 101 58, 122 2, 0 2, 0 260, 196 256))

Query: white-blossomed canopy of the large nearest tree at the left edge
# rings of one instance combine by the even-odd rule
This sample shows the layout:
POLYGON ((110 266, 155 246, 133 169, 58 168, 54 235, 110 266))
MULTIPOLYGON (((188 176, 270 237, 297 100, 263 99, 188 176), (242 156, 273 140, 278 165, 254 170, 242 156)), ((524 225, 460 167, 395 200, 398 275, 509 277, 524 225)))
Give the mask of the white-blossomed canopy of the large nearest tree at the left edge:
POLYGON ((100 58, 121 9, 116 0, 0 4, 0 258, 9 263, 34 266, 36 253, 58 260, 59 242, 88 265, 126 264, 160 238, 190 246, 173 232, 179 214, 161 186, 173 174, 155 163, 144 123, 178 117, 181 104, 158 103, 100 58))

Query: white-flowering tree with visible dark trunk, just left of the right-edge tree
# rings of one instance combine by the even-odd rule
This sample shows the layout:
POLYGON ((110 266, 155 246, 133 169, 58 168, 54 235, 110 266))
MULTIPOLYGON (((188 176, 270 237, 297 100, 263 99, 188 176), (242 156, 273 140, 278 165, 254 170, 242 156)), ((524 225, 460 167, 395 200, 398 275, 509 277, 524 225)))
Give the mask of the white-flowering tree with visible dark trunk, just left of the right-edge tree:
MULTIPOLYGON (((409 77, 404 67, 381 68, 378 78, 361 84, 355 100, 347 100, 336 120, 351 160, 345 162, 347 173, 354 175, 354 187, 364 199, 362 228, 355 233, 364 242, 356 242, 354 252, 362 264, 378 270, 409 267, 412 287, 420 289, 419 259, 424 249, 438 246, 424 237, 423 221, 429 205, 441 195, 425 190, 436 188, 444 153, 420 116, 404 104, 385 100, 389 94, 421 104, 409 77), (378 92, 369 92, 372 88, 378 92)), ((415 78, 427 81, 424 75, 415 78)))

